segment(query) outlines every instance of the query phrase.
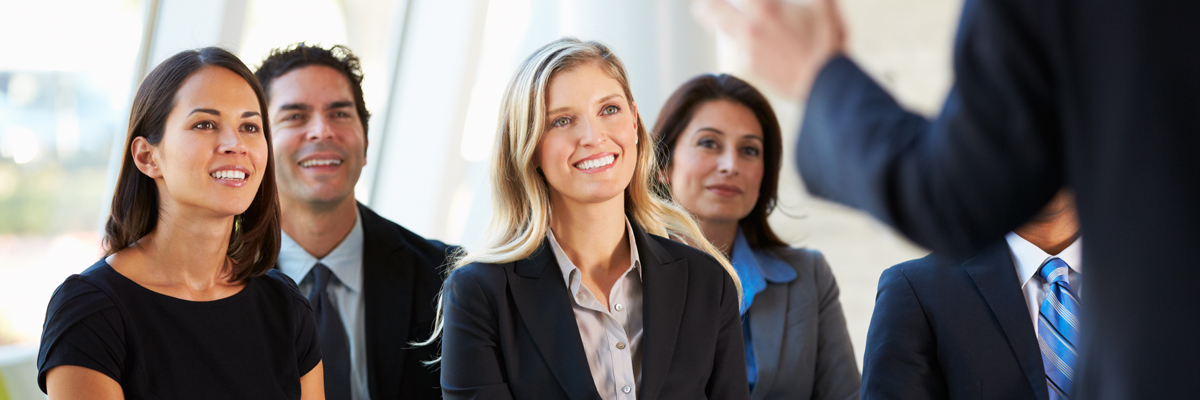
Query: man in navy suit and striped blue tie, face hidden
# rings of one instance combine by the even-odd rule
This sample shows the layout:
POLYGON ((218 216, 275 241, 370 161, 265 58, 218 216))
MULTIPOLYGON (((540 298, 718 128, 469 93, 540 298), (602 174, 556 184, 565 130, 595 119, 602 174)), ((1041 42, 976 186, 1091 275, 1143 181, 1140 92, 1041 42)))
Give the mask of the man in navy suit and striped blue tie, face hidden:
POLYGON ((1058 327, 1055 305, 1064 322, 1070 317, 1044 275, 1066 264, 1064 285, 1078 294, 1081 241, 1074 199, 1063 191, 966 261, 930 255, 884 270, 866 335, 863 399, 1063 399, 1068 382, 1054 376, 1075 365, 1043 359, 1070 358, 1076 344, 1055 330, 1070 328, 1058 327))

